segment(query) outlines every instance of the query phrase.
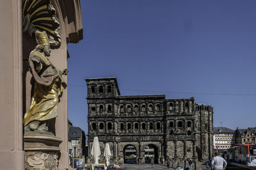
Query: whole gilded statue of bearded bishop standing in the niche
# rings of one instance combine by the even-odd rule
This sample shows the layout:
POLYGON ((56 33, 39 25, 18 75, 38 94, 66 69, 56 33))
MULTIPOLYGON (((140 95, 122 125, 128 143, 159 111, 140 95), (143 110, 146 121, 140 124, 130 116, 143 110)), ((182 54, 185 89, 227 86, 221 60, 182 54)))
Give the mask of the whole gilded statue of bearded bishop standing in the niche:
POLYGON ((56 69, 47 59, 51 49, 45 31, 36 31, 38 45, 29 55, 29 67, 35 79, 34 94, 24 115, 25 132, 47 132, 47 123, 58 115, 59 96, 62 92, 61 75, 68 69, 56 69))

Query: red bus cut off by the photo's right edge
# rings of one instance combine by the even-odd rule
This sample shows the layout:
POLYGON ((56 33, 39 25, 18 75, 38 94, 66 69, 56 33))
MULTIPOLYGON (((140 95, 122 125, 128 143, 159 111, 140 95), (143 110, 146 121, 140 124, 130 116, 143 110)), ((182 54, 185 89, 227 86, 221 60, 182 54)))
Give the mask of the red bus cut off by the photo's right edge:
POLYGON ((228 149, 227 160, 237 164, 256 167, 256 145, 244 144, 228 149))

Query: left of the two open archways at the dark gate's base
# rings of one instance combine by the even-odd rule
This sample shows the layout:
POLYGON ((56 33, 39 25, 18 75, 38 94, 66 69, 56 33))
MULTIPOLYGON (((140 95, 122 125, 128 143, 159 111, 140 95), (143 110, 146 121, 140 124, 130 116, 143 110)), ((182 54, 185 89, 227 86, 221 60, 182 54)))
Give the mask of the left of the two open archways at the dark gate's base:
POLYGON ((137 150, 133 145, 124 147, 124 164, 136 164, 137 150))

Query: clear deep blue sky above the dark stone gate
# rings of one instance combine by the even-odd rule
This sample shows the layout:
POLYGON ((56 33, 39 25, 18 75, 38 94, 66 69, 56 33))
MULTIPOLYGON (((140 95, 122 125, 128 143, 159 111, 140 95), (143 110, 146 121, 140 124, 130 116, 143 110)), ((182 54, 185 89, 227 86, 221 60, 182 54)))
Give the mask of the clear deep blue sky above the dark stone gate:
POLYGON ((214 127, 256 127, 255 9, 248 0, 81 0, 68 118, 87 132, 84 79, 115 76, 121 95, 194 96, 214 108, 214 127))

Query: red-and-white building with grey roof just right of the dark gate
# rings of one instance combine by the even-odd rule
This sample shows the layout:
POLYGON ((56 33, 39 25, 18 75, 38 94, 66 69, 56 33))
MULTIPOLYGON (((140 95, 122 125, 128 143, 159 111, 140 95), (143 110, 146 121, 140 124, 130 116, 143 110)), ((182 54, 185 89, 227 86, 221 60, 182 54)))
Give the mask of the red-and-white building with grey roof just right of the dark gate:
POLYGON ((219 152, 225 151, 234 145, 235 131, 227 127, 214 127, 213 131, 214 151, 216 151, 217 148, 219 152))

